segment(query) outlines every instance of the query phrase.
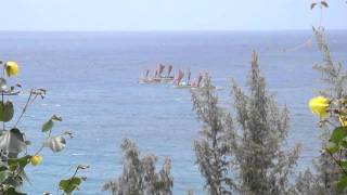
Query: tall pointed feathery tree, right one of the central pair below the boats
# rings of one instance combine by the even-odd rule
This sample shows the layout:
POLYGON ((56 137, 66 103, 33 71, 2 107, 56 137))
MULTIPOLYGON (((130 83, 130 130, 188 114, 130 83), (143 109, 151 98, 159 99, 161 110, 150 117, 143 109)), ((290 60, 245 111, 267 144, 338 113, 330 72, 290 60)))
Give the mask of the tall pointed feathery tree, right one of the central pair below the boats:
POLYGON ((288 110, 280 110, 267 90, 255 52, 247 86, 248 95, 235 83, 232 88, 241 138, 232 150, 240 167, 240 190, 242 194, 286 194, 299 148, 281 150, 288 131, 288 110))

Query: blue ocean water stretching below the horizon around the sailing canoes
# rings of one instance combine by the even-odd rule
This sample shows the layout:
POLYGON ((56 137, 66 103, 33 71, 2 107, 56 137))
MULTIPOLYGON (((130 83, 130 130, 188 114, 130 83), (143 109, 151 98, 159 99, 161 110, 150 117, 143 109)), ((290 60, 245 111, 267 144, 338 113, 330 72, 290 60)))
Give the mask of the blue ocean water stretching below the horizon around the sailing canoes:
MULTIPOLYGON (((221 104, 231 106, 231 78, 245 86, 252 50, 259 53, 260 67, 270 91, 291 110, 291 130, 285 147, 301 143, 297 170, 311 167, 319 156, 317 118, 307 108, 308 100, 322 87, 313 64, 321 61, 316 44, 282 52, 310 38, 311 31, 258 32, 0 32, 0 58, 16 61, 21 76, 11 82, 24 89, 47 88, 25 115, 20 129, 34 142, 34 152, 44 139, 40 132, 51 115, 62 116, 54 133, 72 130, 61 153, 42 152, 43 162, 28 167, 29 194, 56 192, 60 179, 68 178, 74 166, 87 164, 88 180, 76 194, 101 192, 104 182, 121 173, 120 143, 134 140, 142 154, 172 159, 175 194, 193 188, 203 194, 204 181, 192 150, 201 123, 192 110, 188 90, 168 84, 139 84, 140 74, 157 63, 178 68, 209 70, 214 82, 223 87, 221 104)), ((335 60, 347 63, 346 31, 327 31, 335 60)), ((15 98, 18 116, 27 94, 15 98)))

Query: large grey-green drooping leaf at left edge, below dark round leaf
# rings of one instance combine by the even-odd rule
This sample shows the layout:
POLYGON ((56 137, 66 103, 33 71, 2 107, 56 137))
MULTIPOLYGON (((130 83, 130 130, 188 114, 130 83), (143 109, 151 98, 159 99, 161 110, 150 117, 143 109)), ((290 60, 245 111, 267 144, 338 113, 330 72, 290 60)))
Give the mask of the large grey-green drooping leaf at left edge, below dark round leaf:
POLYGON ((24 133, 18 129, 2 131, 0 135, 0 150, 8 151, 9 157, 16 158, 18 153, 26 148, 24 133))

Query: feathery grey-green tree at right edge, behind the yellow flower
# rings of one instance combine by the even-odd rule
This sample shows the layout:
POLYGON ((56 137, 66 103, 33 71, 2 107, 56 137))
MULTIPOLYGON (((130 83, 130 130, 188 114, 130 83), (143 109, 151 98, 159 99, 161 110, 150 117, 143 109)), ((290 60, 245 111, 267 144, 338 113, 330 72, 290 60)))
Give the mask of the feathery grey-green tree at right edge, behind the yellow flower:
MULTIPOLYGON (((346 98, 347 73, 343 68, 342 63, 334 62, 332 58, 330 48, 325 41, 324 28, 313 28, 313 32, 316 35, 318 48, 323 56, 322 62, 316 64, 314 68, 321 73, 322 81, 326 84, 326 89, 320 91, 320 93, 330 100, 342 100, 346 98)), ((339 121, 335 122, 336 126, 339 126, 339 121)), ((324 122, 321 122, 321 144, 322 148, 325 148, 332 129, 324 122)), ((346 156, 347 154, 342 155, 346 156)), ((300 194, 311 194, 310 192, 314 192, 314 194, 340 194, 336 188, 336 182, 340 177, 340 170, 327 154, 322 153, 318 160, 314 161, 314 174, 307 170, 305 174, 301 174, 301 177, 298 178, 296 184, 297 192, 300 194), (307 187, 310 187, 310 190, 307 187)))

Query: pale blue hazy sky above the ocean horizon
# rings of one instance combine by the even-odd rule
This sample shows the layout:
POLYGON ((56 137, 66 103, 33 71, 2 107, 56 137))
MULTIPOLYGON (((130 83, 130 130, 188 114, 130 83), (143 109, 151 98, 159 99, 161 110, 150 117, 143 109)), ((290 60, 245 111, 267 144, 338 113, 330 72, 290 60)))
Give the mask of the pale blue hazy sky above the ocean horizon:
MULTIPOLYGON (((295 30, 319 24, 312 0, 0 0, 0 30, 295 30)), ((346 0, 323 25, 347 29, 346 0)))

